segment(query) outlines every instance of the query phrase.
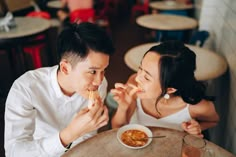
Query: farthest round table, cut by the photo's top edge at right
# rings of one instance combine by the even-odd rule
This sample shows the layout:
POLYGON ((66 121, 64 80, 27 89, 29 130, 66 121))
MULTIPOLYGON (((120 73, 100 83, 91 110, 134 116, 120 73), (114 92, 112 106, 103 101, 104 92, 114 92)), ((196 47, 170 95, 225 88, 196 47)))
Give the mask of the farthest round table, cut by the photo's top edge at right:
POLYGON ((184 4, 176 1, 155 1, 150 2, 149 6, 157 10, 188 10, 193 9, 192 4, 184 4))

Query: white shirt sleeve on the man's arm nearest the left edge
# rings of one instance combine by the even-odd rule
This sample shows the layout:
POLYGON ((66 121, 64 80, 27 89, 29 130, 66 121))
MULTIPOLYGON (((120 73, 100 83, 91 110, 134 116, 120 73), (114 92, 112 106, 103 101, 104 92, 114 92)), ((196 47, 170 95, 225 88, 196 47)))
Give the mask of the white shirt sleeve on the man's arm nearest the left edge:
POLYGON ((15 82, 8 94, 5 109, 6 157, 53 157, 64 153, 59 133, 34 139, 37 111, 32 105, 27 87, 15 82))

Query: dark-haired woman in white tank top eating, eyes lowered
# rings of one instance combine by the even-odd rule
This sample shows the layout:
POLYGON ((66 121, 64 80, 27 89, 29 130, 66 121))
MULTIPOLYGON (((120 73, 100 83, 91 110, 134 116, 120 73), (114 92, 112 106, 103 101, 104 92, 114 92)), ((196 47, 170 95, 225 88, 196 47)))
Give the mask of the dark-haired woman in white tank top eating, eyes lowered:
POLYGON ((196 56, 183 43, 166 41, 144 55, 137 74, 111 90, 118 108, 112 127, 128 123, 184 130, 202 137, 219 121, 205 86, 196 81, 196 56))

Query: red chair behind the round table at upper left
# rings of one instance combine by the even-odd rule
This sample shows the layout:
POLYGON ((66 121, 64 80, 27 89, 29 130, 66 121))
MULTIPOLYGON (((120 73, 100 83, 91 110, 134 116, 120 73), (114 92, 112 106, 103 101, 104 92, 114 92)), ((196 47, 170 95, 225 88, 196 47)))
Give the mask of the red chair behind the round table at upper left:
MULTIPOLYGON (((48 12, 44 12, 44 11, 33 11, 33 12, 30 12, 29 14, 27 14, 26 16, 28 16, 28 17, 40 17, 40 18, 44 18, 44 19, 50 19, 51 18, 50 14, 48 12)), ((44 40, 45 38, 46 38, 45 35, 38 35, 33 40, 34 41, 40 41, 40 40, 44 40)), ((45 47, 45 43, 40 43, 40 44, 35 44, 35 45, 32 45, 32 46, 24 47, 24 52, 30 54, 31 57, 32 57, 34 68, 42 67, 40 50, 44 47, 45 47)))

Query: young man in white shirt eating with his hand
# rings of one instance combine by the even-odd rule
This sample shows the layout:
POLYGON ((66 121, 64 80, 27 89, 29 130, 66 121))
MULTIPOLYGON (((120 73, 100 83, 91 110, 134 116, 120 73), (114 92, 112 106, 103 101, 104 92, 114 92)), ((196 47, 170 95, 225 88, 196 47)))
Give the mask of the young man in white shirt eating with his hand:
POLYGON ((108 122, 103 105, 105 69, 114 48, 91 23, 73 24, 58 37, 59 65, 29 71, 12 85, 5 110, 5 152, 15 156, 61 156, 108 122), (98 91, 92 108, 89 93, 98 91))

